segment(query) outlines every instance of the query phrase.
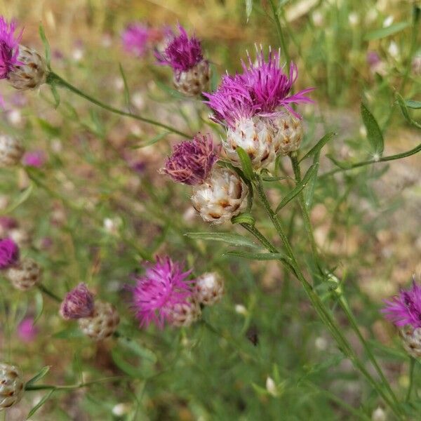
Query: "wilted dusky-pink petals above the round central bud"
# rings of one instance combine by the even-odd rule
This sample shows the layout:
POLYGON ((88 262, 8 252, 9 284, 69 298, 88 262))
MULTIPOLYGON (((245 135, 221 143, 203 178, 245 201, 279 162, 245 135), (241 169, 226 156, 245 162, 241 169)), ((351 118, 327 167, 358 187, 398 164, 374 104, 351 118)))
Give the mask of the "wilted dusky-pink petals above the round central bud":
POLYGON ((210 135, 194 136, 175 145, 173 154, 167 159, 161 173, 169 175, 175 182, 187 185, 201 184, 210 173, 218 159, 218 148, 215 148, 210 135))

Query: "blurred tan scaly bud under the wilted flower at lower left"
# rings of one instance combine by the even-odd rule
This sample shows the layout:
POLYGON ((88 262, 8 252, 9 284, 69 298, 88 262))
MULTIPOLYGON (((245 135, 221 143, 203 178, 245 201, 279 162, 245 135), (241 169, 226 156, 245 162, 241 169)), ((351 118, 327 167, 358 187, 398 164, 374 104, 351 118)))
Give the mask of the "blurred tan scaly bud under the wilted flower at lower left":
POLYGON ((93 340, 109 338, 117 329, 120 316, 114 305, 97 301, 91 317, 79 319, 81 331, 93 340))

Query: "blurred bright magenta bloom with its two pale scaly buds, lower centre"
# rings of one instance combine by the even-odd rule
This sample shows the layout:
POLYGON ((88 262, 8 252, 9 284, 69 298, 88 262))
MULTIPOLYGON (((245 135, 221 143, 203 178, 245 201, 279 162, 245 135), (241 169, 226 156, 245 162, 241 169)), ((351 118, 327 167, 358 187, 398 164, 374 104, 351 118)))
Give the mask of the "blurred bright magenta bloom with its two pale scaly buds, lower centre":
POLYGON ((210 305, 222 297, 222 279, 218 278, 218 287, 216 283, 201 282, 201 277, 189 280, 192 269, 183 271, 180 263, 168 257, 157 258, 154 265, 145 269, 144 275, 135 277, 135 286, 129 287, 141 327, 154 323, 163 328, 166 322, 171 326, 190 326, 201 316, 201 304, 210 305), (209 295, 215 299, 203 300, 203 296, 209 295))

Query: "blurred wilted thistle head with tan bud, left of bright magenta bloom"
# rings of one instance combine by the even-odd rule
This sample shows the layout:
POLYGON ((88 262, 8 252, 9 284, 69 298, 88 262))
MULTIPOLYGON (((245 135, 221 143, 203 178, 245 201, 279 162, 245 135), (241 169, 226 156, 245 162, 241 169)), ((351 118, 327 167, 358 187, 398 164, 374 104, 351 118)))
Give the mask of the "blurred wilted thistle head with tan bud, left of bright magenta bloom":
POLYGON ((78 320, 82 332, 93 340, 112 336, 120 323, 119 313, 109 302, 95 301, 85 283, 79 283, 62 301, 60 316, 65 320, 78 320))

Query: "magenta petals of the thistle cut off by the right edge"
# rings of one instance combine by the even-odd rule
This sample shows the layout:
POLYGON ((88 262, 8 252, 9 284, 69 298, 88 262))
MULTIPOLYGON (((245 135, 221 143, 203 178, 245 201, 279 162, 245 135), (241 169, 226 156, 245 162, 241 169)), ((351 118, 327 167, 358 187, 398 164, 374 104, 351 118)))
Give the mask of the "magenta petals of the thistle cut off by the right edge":
POLYGON ((401 290, 399 295, 385 300, 386 307, 381 310, 386 319, 396 326, 411 325, 421 328, 421 286, 413 279, 412 288, 401 290))

